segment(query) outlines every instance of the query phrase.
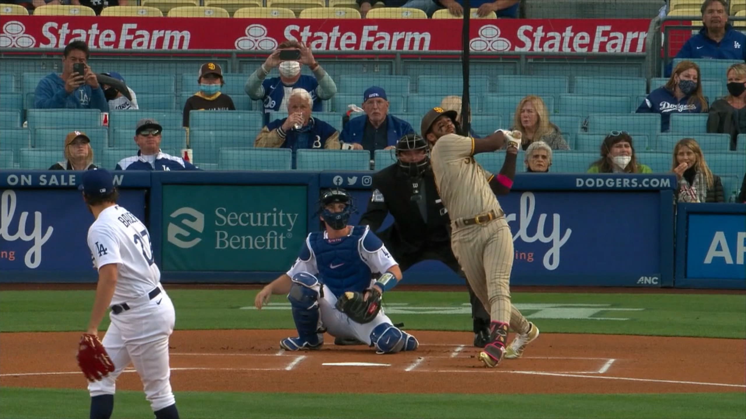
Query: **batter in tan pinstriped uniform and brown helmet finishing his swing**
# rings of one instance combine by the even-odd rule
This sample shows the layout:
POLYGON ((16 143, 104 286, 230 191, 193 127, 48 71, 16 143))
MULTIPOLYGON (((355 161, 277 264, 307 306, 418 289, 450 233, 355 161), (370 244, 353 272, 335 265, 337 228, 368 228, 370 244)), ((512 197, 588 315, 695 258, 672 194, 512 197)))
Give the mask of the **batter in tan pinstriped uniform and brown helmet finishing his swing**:
POLYGON ((509 327, 518 333, 510 346, 512 358, 521 356, 526 344, 539 335, 539 329, 510 303, 513 235, 495 197, 513 186, 521 133, 497 130, 483 139, 460 136, 454 133, 456 115, 433 108, 422 119, 421 132, 433 145, 431 164, 440 197, 451 214, 454 254, 492 318, 490 342, 479 359, 487 367, 496 367, 507 356, 509 327), (505 163, 497 176, 474 160, 474 154, 498 150, 505 142, 505 163))

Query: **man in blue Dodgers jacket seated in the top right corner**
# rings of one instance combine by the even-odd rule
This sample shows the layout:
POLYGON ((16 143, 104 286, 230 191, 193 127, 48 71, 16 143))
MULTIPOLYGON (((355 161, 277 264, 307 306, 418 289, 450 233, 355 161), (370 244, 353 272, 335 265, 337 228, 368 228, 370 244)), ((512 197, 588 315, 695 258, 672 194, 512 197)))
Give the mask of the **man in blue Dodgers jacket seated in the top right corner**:
MULTIPOLYGON (((675 58, 746 60, 746 34, 728 24, 727 1, 705 0, 701 12, 703 28, 686 41, 675 58)), ((666 66, 666 77, 671 75, 673 65, 671 61, 666 66)))

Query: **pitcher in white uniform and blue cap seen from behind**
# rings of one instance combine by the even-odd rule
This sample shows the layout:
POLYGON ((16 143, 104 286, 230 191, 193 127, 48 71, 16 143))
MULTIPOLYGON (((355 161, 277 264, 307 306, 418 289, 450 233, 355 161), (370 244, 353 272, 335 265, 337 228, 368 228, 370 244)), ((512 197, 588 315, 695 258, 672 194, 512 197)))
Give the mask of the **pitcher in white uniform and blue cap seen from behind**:
MULTIPOLYGON (((113 363, 110 374, 104 371, 104 377, 98 379, 94 375, 92 379, 89 372, 95 365, 81 362, 80 353, 78 356, 90 380, 90 418, 110 418, 116 377, 132 362, 155 417, 178 419, 169 368, 169 336, 174 330, 175 312, 160 285, 160 270, 153 261, 148 229, 116 204, 118 193, 109 171, 99 168, 85 172, 79 189, 95 218, 88 230, 88 246, 98 268, 95 302, 84 335, 89 342, 101 344, 98 325, 111 308, 103 350, 95 356, 113 363)), ((80 350, 83 349, 81 344, 80 350)))

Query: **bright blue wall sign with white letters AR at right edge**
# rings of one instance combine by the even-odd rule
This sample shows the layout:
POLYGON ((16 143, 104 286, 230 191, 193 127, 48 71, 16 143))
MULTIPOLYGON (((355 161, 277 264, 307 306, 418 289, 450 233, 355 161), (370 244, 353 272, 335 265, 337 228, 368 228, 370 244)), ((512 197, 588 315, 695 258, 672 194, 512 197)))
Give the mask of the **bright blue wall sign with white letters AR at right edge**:
POLYGON ((687 278, 746 280, 745 258, 745 215, 689 215, 687 278))

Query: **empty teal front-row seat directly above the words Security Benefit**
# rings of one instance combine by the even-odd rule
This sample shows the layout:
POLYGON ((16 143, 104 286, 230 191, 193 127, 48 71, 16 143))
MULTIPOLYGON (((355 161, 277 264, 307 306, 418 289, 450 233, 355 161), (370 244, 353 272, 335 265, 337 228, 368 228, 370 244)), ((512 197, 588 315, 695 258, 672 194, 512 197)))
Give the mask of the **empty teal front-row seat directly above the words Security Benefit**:
POLYGON ((221 148, 219 170, 291 170, 289 148, 221 148))

